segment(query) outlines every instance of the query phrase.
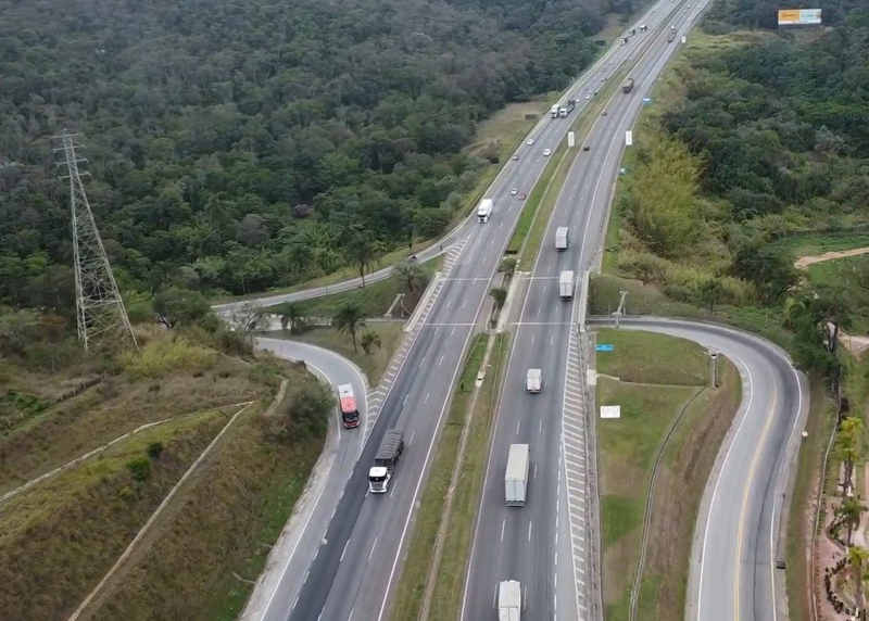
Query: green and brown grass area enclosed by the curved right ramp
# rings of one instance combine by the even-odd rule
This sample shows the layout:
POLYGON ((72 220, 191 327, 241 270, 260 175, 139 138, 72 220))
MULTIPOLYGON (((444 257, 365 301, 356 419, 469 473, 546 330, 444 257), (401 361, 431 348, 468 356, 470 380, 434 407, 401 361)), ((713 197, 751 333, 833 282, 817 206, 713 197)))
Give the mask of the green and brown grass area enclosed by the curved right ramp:
POLYGON ((605 617, 628 619, 650 478, 667 433, 684 409, 658 467, 638 600, 639 619, 679 619, 696 512, 739 406, 739 376, 725 363, 721 386, 705 388, 704 350, 670 337, 602 330, 597 342, 615 345, 613 352, 597 353, 599 372, 621 378, 597 381, 597 405, 621 406, 620 419, 597 424, 605 617))

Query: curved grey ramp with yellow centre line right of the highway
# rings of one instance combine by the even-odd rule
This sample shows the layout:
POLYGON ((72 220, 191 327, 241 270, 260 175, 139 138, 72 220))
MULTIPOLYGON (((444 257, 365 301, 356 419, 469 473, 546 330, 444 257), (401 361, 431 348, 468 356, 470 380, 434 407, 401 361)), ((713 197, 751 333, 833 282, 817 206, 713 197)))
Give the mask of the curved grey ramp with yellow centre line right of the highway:
MULTIPOLYGON (((777 609, 784 570, 778 545, 788 465, 798 447, 808 386, 788 355, 726 326, 678 319, 622 318, 621 328, 701 343, 739 369, 743 398, 718 454, 697 518, 689 581, 691 621, 784 620, 777 609)), ((786 519, 786 516, 785 516, 786 519)))

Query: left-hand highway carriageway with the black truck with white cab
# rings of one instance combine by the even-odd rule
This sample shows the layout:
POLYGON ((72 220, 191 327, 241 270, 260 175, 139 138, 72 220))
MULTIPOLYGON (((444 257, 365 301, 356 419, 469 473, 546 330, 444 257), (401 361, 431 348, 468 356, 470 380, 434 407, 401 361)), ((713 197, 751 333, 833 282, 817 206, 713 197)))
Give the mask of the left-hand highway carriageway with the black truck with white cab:
MULTIPOLYGON (((591 88, 600 81, 600 67, 609 73, 634 49, 633 41, 615 47, 571 92, 591 88)), ((581 104, 584 103, 583 100, 581 104)), ((323 543, 313 553, 308 570, 298 576, 301 591, 295 598, 284 592, 276 596, 289 606, 291 619, 380 621, 386 618, 400 572, 400 553, 406 544, 448 395, 461 371, 464 352, 482 316, 492 277, 524 204, 509 191, 531 190, 547 161, 543 150, 555 149, 567 132, 569 121, 570 117, 543 119, 531 134, 533 144, 525 144, 517 151, 519 161, 508 162, 486 194, 494 199, 489 223, 468 220, 459 228, 467 232, 467 242, 444 278, 425 322, 413 335, 407 357, 383 402, 370 441, 363 447, 360 461, 341 492, 323 543), (392 427, 404 431, 407 447, 390 492, 369 495, 367 470, 383 433, 392 427)), ((462 236, 452 239, 459 240, 462 236)), ((286 619, 284 610, 275 607, 263 618, 286 619)))

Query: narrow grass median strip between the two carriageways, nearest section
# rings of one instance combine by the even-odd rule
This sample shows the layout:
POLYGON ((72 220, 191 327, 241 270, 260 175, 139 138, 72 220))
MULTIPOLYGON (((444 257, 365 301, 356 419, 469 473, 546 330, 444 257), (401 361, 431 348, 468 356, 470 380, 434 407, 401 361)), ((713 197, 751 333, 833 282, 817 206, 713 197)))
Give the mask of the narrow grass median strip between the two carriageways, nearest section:
POLYGON ((428 619, 456 618, 462 597, 465 563, 477 515, 477 498, 482 483, 488 455, 488 432, 492 417, 492 405, 498 394, 500 375, 507 355, 508 337, 499 334, 491 342, 491 355, 487 364, 482 385, 475 389, 477 372, 486 360, 490 345, 489 334, 480 334, 474 341, 458 386, 453 394, 450 415, 431 465, 426 490, 417 511, 414 532, 395 594, 391 619, 406 621, 418 619, 424 607, 427 586, 432 593, 428 619), (477 396, 474 392, 477 390, 477 396), (471 411, 473 406, 473 411, 471 411), (453 491, 445 537, 441 545, 437 574, 432 575, 432 550, 438 545, 438 532, 444 518, 448 492, 459 458, 462 434, 466 431, 465 453, 459 465, 459 477, 453 491), (434 579, 433 591, 430 580, 434 579))

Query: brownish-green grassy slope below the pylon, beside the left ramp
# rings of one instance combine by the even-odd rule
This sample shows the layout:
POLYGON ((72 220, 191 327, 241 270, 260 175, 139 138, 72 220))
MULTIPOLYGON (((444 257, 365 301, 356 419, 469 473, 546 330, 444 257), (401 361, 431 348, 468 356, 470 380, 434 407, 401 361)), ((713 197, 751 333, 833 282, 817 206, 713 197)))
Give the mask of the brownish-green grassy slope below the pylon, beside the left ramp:
POLYGON ((86 355, 62 318, 0 309, 3 619, 67 619, 241 413, 86 609, 235 619, 319 455, 333 397, 302 366, 235 333, 136 331, 138 352, 86 355))

